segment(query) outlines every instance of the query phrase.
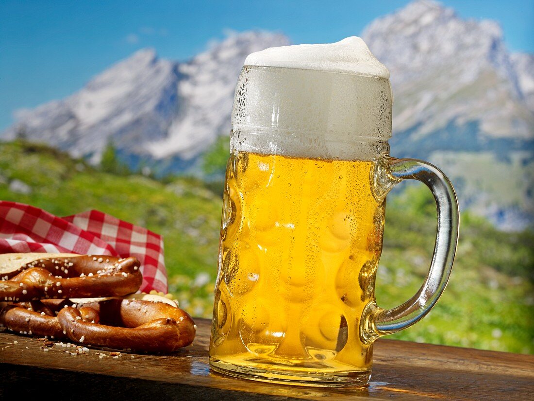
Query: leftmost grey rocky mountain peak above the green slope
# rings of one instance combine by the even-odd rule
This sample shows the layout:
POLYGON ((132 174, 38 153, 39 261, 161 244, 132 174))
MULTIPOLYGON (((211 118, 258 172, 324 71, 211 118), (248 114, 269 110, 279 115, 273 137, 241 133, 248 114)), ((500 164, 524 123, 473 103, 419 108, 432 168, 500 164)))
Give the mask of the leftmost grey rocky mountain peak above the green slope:
POLYGON ((171 124, 179 76, 176 63, 140 50, 74 95, 19 111, 5 137, 24 135, 93 161, 108 140, 124 151, 143 152, 143 142, 164 136, 171 124))

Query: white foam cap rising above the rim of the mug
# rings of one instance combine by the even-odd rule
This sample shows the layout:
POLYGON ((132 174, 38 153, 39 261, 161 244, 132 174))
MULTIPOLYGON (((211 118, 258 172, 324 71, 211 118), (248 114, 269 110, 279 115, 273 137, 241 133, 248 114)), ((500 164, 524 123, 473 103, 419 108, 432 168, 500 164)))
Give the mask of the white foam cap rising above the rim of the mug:
POLYGON ((336 43, 299 44, 257 51, 247 66, 300 68, 389 79, 389 71, 369 50, 362 38, 350 36, 336 43))

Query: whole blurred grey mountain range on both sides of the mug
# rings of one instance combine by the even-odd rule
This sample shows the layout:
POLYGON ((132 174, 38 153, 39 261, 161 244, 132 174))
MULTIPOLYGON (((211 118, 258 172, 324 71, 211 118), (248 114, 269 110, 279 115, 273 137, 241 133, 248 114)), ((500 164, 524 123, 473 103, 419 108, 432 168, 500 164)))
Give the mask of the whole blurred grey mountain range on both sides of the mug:
MULTIPOLYGON (((534 222, 534 56, 512 54, 502 36, 494 21, 462 19, 427 0, 362 33, 391 72, 391 155, 435 163, 462 209, 518 230, 534 222)), ((229 132, 245 57, 288 42, 233 34, 185 62, 138 51, 72 96, 20 111, 4 138, 46 142, 92 163, 112 141, 131 166, 198 173, 202 155, 229 132)))

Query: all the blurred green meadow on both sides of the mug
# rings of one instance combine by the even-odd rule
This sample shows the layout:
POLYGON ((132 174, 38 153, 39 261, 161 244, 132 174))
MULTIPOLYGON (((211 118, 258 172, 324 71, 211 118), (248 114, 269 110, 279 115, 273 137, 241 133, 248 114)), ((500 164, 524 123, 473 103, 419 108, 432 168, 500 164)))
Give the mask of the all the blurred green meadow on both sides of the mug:
MULTIPOLYGON (((184 309, 202 317, 210 317, 213 307, 222 203, 208 188, 217 186, 117 176, 45 146, 0 143, 0 199, 60 216, 97 209, 163 235, 169 290, 184 309), (13 180, 32 192, 12 192, 13 180)), ((394 307, 418 290, 428 271, 436 229, 429 191, 411 186, 389 197, 386 221, 376 299, 394 307)), ((534 353, 533 240, 532 232, 499 232, 462 214, 456 262, 442 299, 417 325, 391 337, 534 353)))

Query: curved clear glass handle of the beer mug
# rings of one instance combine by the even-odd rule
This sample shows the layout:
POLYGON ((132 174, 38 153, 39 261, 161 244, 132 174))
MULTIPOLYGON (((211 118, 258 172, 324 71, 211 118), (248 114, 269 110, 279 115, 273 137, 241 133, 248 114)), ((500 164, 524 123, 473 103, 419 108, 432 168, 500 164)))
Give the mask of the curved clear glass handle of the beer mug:
POLYGON ((430 189, 437 204, 437 235, 427 278, 417 294, 393 309, 372 302, 365 307, 360 323, 364 343, 396 333, 422 319, 441 296, 451 274, 458 243, 458 201, 451 182, 426 161, 381 156, 373 171, 375 196, 383 199, 400 181, 418 180, 430 189))

